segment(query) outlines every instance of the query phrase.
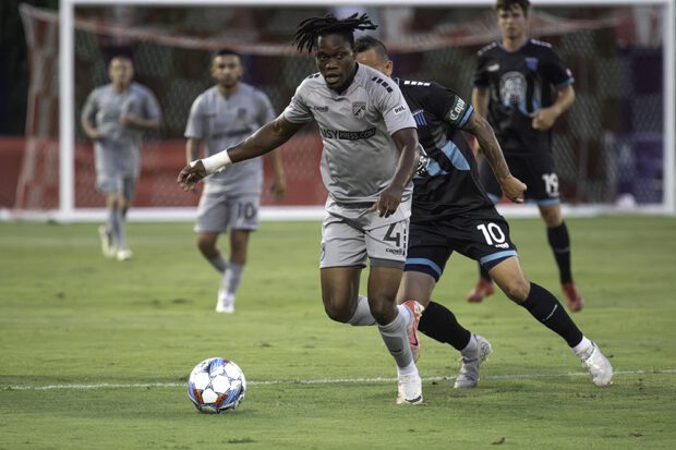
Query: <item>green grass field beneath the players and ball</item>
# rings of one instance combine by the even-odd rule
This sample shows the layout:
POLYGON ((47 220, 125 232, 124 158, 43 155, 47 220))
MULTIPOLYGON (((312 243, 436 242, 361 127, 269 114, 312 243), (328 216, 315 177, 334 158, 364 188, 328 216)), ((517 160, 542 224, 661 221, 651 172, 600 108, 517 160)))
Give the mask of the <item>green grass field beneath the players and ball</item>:
MULTIPOLYGON (((529 278, 559 295, 542 222, 510 222, 529 278)), ((94 224, 0 223, 0 449, 676 448, 676 220, 568 226, 587 299, 574 318, 615 385, 594 387, 502 293, 466 303, 476 270, 456 255, 435 300, 494 353, 458 391, 458 354, 423 337, 415 408, 395 404, 376 329, 325 316, 317 222, 262 223, 234 315, 213 311, 218 276, 191 223, 130 224, 125 263, 100 256, 94 224), (249 389, 238 411, 203 415, 183 384, 216 355, 249 389)))

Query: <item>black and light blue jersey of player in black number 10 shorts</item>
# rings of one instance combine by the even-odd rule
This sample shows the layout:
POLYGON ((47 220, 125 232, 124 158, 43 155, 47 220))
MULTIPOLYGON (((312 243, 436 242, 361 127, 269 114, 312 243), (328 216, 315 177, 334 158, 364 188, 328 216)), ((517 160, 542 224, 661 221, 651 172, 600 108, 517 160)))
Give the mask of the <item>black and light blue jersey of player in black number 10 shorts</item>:
POLYGON ((479 181, 472 149, 460 131, 474 112, 472 106, 437 83, 395 81, 413 114, 425 153, 413 178, 411 222, 493 209, 479 181))

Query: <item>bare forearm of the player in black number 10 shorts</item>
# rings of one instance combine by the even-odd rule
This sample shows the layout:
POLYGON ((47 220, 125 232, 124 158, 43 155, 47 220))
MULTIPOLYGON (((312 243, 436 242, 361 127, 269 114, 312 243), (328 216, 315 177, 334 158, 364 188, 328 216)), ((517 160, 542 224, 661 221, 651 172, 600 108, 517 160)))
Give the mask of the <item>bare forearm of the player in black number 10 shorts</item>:
POLYGON ((472 114, 463 130, 476 137, 481 151, 491 165, 495 179, 500 183, 505 196, 514 203, 523 203, 526 184, 512 177, 509 171, 509 167, 503 155, 503 149, 488 121, 479 114, 472 114))

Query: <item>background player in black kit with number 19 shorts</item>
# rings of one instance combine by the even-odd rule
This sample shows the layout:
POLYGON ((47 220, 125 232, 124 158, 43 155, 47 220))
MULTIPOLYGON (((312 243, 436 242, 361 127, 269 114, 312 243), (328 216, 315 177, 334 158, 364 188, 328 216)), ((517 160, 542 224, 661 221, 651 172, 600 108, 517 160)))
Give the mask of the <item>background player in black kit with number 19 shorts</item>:
MULTIPOLYGON (((583 301, 570 270, 570 238, 552 157, 552 125, 572 105, 575 80, 550 44, 527 37, 529 4, 496 2, 502 39, 479 51, 472 105, 493 125, 511 173, 528 185, 526 199, 538 204, 568 308, 577 312, 583 301)), ((480 174, 492 199, 499 200, 499 184, 485 162, 480 174)), ((480 273, 470 302, 493 294, 491 277, 482 267, 480 273)))

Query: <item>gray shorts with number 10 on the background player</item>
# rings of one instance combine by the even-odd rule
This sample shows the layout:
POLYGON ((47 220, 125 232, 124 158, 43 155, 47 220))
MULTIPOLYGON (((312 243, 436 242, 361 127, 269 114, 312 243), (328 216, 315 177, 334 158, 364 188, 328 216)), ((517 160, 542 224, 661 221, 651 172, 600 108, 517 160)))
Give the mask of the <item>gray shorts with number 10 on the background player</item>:
POLYGON ((227 193, 203 193, 197 207, 197 233, 225 233, 233 230, 258 229, 257 194, 230 195, 227 193))

